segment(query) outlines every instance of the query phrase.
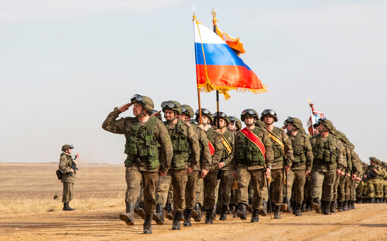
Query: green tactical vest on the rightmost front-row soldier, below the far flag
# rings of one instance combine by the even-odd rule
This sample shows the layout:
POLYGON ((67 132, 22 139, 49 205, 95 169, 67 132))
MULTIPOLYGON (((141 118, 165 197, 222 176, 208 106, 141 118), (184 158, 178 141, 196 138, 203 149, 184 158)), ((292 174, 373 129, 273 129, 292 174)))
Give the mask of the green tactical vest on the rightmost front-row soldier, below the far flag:
POLYGON ((320 135, 315 137, 316 143, 313 146, 313 163, 319 165, 334 165, 337 160, 337 147, 333 143, 333 136, 330 134, 324 142, 320 135))

